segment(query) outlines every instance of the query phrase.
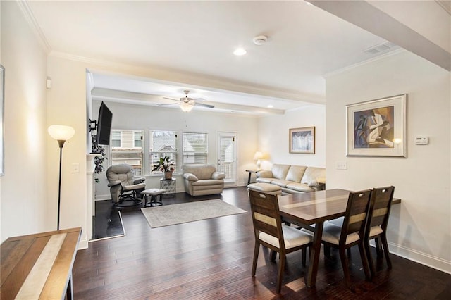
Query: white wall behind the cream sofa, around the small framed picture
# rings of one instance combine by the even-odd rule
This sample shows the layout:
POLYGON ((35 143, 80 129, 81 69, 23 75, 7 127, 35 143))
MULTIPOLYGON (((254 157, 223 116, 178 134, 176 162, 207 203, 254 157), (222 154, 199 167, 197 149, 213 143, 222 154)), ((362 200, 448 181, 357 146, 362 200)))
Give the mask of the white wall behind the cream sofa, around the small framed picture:
MULTIPOLYGON (((285 115, 268 115, 259 118, 259 151, 269 154, 262 169, 272 163, 326 167, 326 106, 312 105, 285 112, 285 115), (315 127, 315 154, 290 154, 290 128, 315 127)), ((255 166, 254 166, 255 168, 255 166)))

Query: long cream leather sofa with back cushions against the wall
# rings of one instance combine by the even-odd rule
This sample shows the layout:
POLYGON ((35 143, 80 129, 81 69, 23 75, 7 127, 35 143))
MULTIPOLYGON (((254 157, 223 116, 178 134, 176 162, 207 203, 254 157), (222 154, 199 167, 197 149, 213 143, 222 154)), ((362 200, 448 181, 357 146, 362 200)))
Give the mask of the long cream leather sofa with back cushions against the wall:
POLYGON ((257 182, 270 183, 288 194, 326 189, 326 168, 274 163, 271 170, 257 172, 257 182))

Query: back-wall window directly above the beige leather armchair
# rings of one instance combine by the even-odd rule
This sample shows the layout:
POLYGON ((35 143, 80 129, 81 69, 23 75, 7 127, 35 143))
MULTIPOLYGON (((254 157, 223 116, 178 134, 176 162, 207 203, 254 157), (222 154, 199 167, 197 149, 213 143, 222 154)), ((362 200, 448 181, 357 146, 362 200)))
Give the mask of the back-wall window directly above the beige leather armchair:
POLYGON ((208 140, 206 133, 183 132, 183 164, 206 164, 208 140))

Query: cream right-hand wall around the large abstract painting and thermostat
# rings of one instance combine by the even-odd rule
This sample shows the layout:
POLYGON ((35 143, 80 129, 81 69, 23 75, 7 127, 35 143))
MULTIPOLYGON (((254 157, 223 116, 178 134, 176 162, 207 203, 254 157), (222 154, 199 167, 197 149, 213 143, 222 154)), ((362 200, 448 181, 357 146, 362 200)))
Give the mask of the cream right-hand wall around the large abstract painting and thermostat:
POLYGON ((451 273, 450 73, 407 51, 326 78, 327 185, 395 186, 390 251, 451 273), (407 158, 347 157, 345 105, 407 93, 407 158), (414 137, 428 136, 427 146, 414 137), (335 163, 347 162, 347 170, 335 163))

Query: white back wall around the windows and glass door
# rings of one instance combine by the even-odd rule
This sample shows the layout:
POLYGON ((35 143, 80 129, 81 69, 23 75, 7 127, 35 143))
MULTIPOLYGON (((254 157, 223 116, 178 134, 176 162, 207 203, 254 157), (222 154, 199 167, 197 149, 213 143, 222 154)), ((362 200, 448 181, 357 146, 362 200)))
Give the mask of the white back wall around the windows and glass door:
MULTIPOLYGON (((100 101, 93 101, 93 115, 99 111, 100 101)), ((148 146, 148 131, 150 130, 175 130, 179 135, 182 132, 207 132, 209 139, 208 163, 217 163, 217 138, 218 132, 237 132, 237 156, 240 158, 237 165, 237 185, 247 184, 247 168, 255 168, 252 156, 257 149, 257 118, 246 115, 232 115, 225 113, 211 113, 198 111, 195 108, 190 113, 183 113, 177 106, 175 108, 162 108, 155 106, 137 106, 130 104, 118 104, 105 102, 113 113, 113 129, 147 130, 144 141, 148 146)), ((94 117, 97 118, 97 117, 94 117)), ((179 149, 182 146, 179 138, 179 149)), ((108 151, 108 148, 107 148, 108 151)), ((180 153, 180 151, 179 151, 180 153)), ((105 161, 108 168, 108 160, 105 161)), ((181 161, 180 161, 181 162, 181 161)), ((181 163, 180 163, 181 165, 181 163)), ((107 185, 106 175, 97 175, 99 183, 96 184, 96 199, 111 199, 107 185)), ((161 175, 145 176, 146 187, 159 187, 161 175)), ((183 192, 183 180, 180 175, 177 179, 177 192, 183 192)))

